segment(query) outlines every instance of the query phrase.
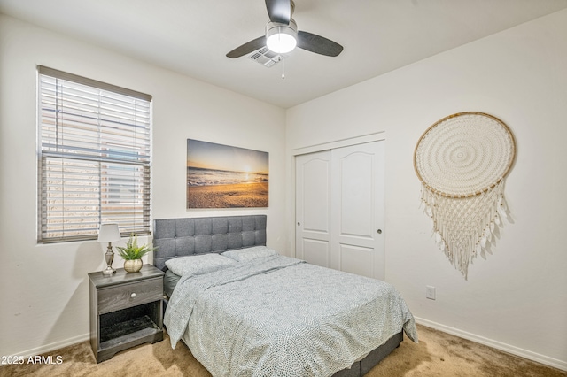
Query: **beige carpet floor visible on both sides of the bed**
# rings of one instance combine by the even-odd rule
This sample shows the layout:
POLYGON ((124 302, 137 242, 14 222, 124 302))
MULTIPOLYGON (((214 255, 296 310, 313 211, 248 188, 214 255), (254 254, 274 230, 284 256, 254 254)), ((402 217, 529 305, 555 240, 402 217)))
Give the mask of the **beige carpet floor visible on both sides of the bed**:
MULTIPOLYGON (((567 376, 567 372, 517 358, 429 327, 418 325, 417 331, 419 343, 405 338, 400 347, 375 366, 367 376, 567 376)), ((89 342, 74 344, 46 355, 52 356, 54 362, 60 356, 62 363, 4 365, 0 366, 0 376, 210 376, 183 343, 172 350, 167 335, 162 342, 146 343, 124 350, 100 364, 96 364, 89 342)))

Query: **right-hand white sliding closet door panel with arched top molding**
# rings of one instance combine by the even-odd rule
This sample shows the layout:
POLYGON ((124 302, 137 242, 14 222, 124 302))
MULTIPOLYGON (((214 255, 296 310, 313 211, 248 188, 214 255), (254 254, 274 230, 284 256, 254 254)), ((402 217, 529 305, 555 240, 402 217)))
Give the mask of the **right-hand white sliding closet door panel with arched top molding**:
POLYGON ((384 142, 331 152, 331 267, 384 280, 384 142))

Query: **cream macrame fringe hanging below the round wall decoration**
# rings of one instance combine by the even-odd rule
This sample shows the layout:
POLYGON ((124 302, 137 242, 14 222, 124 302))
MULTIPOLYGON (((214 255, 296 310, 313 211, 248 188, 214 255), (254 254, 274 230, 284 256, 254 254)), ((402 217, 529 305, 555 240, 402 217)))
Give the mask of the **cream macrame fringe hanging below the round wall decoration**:
POLYGON ((479 254, 485 255, 494 228, 507 218, 504 180, 469 197, 442 196, 422 184, 421 200, 439 249, 467 280, 469 264, 479 254))

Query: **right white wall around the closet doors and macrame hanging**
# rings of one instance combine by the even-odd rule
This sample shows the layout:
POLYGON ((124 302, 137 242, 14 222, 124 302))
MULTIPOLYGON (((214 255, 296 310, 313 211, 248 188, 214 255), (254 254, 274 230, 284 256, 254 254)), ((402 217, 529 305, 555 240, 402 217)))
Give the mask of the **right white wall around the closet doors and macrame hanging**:
MULTIPOLYGON (((567 11, 514 27, 300 104, 287 113, 288 198, 293 150, 377 131, 386 137, 385 279, 423 324, 567 369, 567 11), (493 255, 447 261, 418 209, 416 142, 437 120, 477 111, 517 141, 506 181, 512 223, 493 255), (425 286, 437 299, 425 298, 425 286)), ((290 247, 293 203, 288 201, 290 247)))

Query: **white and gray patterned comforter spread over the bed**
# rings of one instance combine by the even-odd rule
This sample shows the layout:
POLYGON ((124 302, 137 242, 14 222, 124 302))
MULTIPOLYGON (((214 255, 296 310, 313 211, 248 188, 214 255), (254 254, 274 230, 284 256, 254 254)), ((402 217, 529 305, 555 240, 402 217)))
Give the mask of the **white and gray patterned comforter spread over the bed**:
POLYGON ((214 376, 330 376, 416 324, 392 285, 272 256, 183 276, 164 318, 214 376))

